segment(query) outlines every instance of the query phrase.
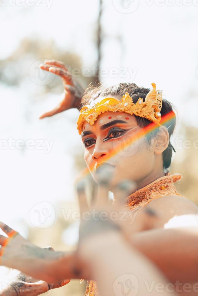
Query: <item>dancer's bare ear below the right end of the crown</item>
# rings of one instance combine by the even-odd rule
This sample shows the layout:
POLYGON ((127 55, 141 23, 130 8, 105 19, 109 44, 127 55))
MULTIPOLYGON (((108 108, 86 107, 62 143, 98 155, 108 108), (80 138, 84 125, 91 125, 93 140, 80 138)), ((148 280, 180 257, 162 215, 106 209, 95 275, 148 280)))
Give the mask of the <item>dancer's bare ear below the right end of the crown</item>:
POLYGON ((165 126, 160 126, 155 141, 153 143, 154 153, 160 155, 167 149, 169 143, 169 133, 165 126))

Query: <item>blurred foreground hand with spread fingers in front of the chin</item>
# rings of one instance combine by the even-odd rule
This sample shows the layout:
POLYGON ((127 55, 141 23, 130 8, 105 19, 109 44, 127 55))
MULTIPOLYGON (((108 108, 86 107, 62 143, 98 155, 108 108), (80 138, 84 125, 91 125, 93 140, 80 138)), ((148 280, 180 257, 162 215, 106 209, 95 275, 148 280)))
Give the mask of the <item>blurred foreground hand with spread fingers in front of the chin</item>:
POLYGON ((88 261, 90 246, 97 248, 97 246, 94 246, 95 235, 100 235, 101 238, 104 237, 104 240, 107 241, 108 232, 118 231, 129 242, 132 233, 135 231, 131 226, 135 213, 128 211, 124 206, 124 198, 134 189, 134 183, 125 181, 117 185, 114 188, 116 200, 112 202, 108 198, 109 185, 113 175, 111 168, 102 165, 98 175, 98 198, 91 204, 91 207, 87 203, 85 194, 86 180, 81 179, 76 184, 81 210, 78 254, 81 259, 87 259, 88 261))

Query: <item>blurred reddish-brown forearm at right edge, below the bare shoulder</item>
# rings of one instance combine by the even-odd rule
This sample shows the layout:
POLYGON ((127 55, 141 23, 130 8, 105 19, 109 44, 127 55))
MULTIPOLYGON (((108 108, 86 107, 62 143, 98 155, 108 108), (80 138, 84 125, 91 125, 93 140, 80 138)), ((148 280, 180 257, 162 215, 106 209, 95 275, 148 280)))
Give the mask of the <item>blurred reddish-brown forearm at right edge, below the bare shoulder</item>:
POLYGON ((197 227, 154 229, 137 233, 132 244, 175 283, 198 279, 197 227))

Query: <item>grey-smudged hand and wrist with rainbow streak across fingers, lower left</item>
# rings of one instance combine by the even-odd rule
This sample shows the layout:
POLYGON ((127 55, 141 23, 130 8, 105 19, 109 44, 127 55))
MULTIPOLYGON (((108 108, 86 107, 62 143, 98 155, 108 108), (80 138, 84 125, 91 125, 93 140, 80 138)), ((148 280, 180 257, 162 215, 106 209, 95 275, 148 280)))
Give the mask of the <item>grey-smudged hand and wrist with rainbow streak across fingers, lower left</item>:
POLYGON ((50 252, 39 248, 3 222, 0 222, 0 228, 8 236, 0 235, 0 265, 18 269, 49 283, 71 278, 72 253, 50 252), (63 272, 62 266, 59 265, 62 258, 64 258, 63 272))

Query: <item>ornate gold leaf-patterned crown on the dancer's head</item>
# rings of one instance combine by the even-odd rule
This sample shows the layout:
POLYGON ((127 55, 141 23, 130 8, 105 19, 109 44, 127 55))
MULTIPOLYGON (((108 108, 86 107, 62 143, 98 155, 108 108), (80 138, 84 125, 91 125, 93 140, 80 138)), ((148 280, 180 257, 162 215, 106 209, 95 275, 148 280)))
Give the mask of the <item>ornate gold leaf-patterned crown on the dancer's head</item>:
POLYGON ((156 90, 155 83, 151 85, 153 89, 147 94, 144 101, 142 98, 139 98, 138 101, 134 103, 133 98, 126 92, 121 98, 121 101, 116 98, 105 98, 99 102, 96 100, 92 101, 90 105, 83 106, 77 121, 79 134, 82 133, 84 121, 93 125, 97 117, 107 111, 134 114, 159 124, 161 120, 162 90, 156 90))

